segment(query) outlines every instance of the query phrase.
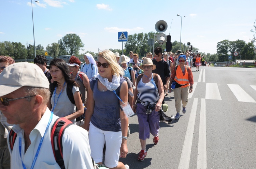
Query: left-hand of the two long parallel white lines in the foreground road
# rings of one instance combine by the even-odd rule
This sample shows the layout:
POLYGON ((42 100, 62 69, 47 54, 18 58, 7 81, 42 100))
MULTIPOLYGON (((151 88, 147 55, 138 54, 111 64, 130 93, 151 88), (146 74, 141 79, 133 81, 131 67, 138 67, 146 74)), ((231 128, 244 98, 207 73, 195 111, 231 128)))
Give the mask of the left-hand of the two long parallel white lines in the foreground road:
POLYGON ((185 140, 182 148, 179 169, 189 168, 191 146, 193 141, 195 121, 196 121, 197 104, 198 104, 198 98, 194 98, 194 102, 193 102, 189 120, 188 120, 187 132, 186 132, 186 136, 185 136, 185 140))

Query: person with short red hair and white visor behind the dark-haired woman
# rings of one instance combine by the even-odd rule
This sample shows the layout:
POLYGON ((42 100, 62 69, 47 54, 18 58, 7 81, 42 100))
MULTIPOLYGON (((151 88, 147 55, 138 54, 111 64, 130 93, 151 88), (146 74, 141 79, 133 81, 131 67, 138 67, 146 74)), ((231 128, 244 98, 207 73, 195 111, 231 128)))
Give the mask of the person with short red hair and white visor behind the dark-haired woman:
POLYGON ((71 56, 69 59, 69 70, 71 72, 73 80, 75 80, 79 84, 79 90, 82 94, 82 101, 85 107, 87 108, 86 105, 86 98, 88 94, 88 84, 89 84, 89 79, 86 74, 83 72, 79 71, 81 61, 75 57, 71 56))

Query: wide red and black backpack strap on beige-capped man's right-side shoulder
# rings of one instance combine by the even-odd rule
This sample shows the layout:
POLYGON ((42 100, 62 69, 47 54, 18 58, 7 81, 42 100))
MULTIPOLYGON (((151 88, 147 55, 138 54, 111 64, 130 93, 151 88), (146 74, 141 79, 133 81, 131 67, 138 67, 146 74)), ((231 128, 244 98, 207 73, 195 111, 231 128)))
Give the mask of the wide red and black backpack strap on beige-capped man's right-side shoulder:
POLYGON ((64 118, 59 117, 53 124, 51 128, 51 144, 53 148, 53 154, 56 162, 60 166, 61 169, 65 169, 63 154, 62 154, 62 136, 67 127, 72 125, 73 123, 64 118))

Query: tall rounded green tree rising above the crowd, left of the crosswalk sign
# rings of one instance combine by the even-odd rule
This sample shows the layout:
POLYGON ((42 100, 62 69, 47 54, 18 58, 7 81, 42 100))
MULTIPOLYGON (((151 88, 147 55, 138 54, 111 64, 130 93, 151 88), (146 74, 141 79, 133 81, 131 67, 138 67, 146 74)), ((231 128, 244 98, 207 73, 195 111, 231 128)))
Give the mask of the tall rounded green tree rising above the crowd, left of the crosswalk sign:
POLYGON ((66 51, 66 55, 79 55, 79 50, 83 50, 84 43, 79 35, 67 34, 58 40, 59 48, 66 51))

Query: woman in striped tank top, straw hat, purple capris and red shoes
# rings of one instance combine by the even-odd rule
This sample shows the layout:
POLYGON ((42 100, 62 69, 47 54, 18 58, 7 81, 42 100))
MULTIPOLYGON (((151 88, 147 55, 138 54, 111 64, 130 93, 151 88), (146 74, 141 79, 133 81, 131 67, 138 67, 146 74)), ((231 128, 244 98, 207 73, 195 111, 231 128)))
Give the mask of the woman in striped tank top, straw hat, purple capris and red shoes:
POLYGON ((144 74, 139 75, 137 78, 132 110, 138 114, 139 139, 141 143, 141 152, 138 160, 143 161, 147 155, 146 139, 150 138, 150 133, 154 136, 154 144, 157 144, 159 140, 160 110, 165 93, 160 76, 152 73, 152 70, 156 69, 156 65, 153 64, 150 58, 143 60, 140 69, 143 69, 144 74), (136 100, 137 104, 135 106, 136 100))

